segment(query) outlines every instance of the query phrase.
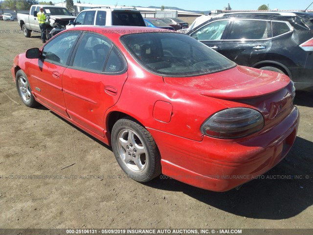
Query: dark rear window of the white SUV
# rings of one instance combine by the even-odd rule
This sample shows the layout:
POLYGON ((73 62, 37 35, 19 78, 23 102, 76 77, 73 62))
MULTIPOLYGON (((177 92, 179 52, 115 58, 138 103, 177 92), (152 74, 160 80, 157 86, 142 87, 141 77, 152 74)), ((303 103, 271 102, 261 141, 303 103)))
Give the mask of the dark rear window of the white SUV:
POLYGON ((112 11, 112 25, 146 26, 140 12, 112 11))

